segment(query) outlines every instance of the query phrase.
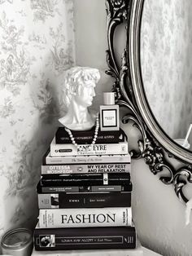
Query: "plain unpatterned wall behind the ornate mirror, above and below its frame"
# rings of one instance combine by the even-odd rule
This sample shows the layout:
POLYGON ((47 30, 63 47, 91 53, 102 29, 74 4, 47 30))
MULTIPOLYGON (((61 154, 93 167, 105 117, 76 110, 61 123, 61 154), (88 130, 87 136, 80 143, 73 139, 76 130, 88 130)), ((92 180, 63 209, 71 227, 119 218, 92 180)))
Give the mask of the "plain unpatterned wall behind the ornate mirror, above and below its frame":
MULTIPOLYGON (((106 11, 104 0, 75 0, 76 64, 99 68, 103 77, 98 85, 95 104, 101 92, 110 90, 112 80, 107 69, 106 11)), ((131 139, 128 126, 124 126, 131 139)), ((133 161, 133 219, 142 245, 163 255, 191 255, 192 218, 185 227, 185 205, 177 199, 172 185, 161 183, 143 160, 133 161)))

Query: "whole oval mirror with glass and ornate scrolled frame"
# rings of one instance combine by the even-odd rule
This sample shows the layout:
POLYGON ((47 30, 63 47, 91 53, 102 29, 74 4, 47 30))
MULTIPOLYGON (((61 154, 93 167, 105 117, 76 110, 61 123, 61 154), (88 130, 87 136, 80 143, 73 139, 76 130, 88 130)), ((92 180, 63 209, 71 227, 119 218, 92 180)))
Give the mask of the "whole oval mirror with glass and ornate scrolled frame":
POLYGON ((122 121, 131 122, 141 134, 137 149, 130 153, 134 158, 143 157, 151 172, 164 184, 173 185, 186 203, 189 193, 185 188, 192 183, 192 149, 176 139, 185 138, 192 122, 190 2, 182 7, 174 1, 155 0, 107 0, 106 4, 107 73, 116 79, 117 104, 127 109, 122 121), (162 11, 155 12, 156 4, 162 11), (120 65, 114 35, 124 23, 127 42, 120 65))

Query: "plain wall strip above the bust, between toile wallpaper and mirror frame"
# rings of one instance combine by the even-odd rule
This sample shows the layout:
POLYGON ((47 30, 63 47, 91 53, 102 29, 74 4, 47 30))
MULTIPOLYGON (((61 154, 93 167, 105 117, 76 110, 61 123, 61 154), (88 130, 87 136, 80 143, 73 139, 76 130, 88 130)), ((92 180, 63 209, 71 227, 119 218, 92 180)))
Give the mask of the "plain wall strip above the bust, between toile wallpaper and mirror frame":
POLYGON ((98 68, 101 79, 96 87, 94 108, 102 104, 102 91, 111 90, 111 77, 107 70, 105 2, 74 1, 74 27, 76 37, 76 65, 98 68))

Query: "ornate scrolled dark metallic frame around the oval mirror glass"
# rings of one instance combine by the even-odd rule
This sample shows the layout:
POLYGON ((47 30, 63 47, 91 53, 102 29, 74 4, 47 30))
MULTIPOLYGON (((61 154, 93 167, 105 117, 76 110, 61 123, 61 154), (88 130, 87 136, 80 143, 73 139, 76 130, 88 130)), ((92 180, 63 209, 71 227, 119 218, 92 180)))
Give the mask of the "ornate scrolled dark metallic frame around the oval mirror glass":
POLYGON ((184 187, 192 183, 192 153, 174 143, 155 121, 142 83, 140 29, 144 1, 106 0, 107 74, 115 78, 112 90, 116 91, 116 103, 129 109, 122 121, 131 121, 142 135, 137 142, 138 150, 130 152, 132 157, 143 157, 151 172, 159 174, 164 184, 172 185, 179 199, 186 203, 189 200, 184 195, 184 187), (114 50, 114 34, 124 22, 127 42, 119 67, 114 50), (177 160, 176 165, 172 164, 172 158, 177 160))

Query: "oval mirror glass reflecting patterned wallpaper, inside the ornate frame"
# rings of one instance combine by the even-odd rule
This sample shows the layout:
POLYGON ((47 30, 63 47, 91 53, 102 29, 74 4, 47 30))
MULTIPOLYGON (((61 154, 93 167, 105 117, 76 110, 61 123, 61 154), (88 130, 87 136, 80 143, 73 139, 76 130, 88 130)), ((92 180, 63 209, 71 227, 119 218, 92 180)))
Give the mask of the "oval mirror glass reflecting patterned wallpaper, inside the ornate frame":
MULTIPOLYGON (((145 0, 140 40, 151 112, 171 139, 185 139, 192 123, 191 1, 145 0)), ((188 142, 183 146, 192 150, 192 130, 188 142)))

